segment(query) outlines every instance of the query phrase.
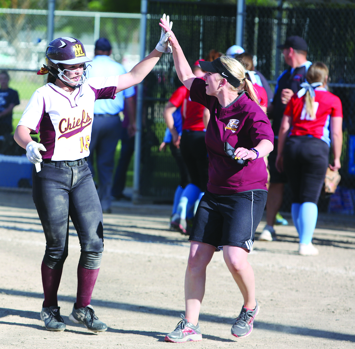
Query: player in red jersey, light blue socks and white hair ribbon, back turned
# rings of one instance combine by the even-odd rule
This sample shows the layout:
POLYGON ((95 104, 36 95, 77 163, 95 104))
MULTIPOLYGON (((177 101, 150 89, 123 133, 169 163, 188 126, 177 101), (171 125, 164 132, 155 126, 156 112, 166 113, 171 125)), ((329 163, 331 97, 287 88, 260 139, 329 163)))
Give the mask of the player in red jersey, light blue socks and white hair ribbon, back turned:
POLYGON ((308 83, 286 106, 279 130, 276 168, 288 176, 293 198, 291 214, 300 237, 299 254, 317 255, 312 236, 317 223, 317 203, 326 175, 332 140, 337 171, 343 144, 343 111, 339 97, 327 91, 328 68, 322 62, 308 69, 308 83), (330 125, 331 139, 328 126, 330 125), (291 128, 290 137, 286 136, 291 128))

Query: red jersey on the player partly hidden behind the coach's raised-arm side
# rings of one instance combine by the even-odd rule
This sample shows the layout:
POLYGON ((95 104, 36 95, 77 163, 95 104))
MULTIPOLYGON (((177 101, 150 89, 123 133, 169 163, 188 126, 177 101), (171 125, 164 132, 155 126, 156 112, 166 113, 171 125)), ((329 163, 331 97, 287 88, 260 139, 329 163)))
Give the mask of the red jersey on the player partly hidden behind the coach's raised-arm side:
MULTIPOLYGON (((203 81, 202 79, 200 79, 203 81)), ((171 95, 169 102, 176 108, 181 107, 182 130, 203 131, 204 106, 191 101, 190 91, 185 86, 180 86, 171 95)))

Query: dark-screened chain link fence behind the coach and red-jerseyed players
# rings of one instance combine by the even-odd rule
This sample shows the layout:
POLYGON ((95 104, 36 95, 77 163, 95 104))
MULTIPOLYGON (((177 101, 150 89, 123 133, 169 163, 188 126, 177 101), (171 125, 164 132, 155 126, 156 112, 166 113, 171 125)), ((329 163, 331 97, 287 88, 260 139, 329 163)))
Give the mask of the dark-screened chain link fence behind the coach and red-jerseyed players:
MULTIPOLYGON (((279 4, 282 2, 279 1, 279 4)), ((149 1, 147 24, 147 52, 156 43, 157 21, 162 13, 170 15, 173 30, 179 39, 187 60, 205 58, 211 49, 225 53, 235 44, 236 6, 149 1)), ((320 199, 322 212, 354 213, 354 44, 349 23, 354 21, 355 6, 335 1, 292 1, 279 7, 246 6, 244 12, 243 47, 254 55, 256 69, 274 88, 277 77, 286 65, 281 50, 277 49, 286 37, 299 35, 308 43, 308 59, 323 61, 329 67, 331 92, 340 97, 344 111, 344 146, 342 155, 342 182, 337 194, 320 199)), ((142 193, 157 197, 173 197, 178 184, 178 169, 169 151, 158 150, 163 139, 165 124, 163 108, 171 93, 180 85, 171 55, 164 55, 146 79, 146 143, 149 156, 143 163, 143 173, 149 169, 149 178, 142 178, 142 193), (144 171, 145 170, 145 171, 144 171), (156 183, 156 184, 155 184, 156 183), (169 187, 164 187, 169 183, 169 187), (174 183, 174 185, 172 185, 174 183)), ((286 186, 281 210, 290 211, 290 188, 286 186)))

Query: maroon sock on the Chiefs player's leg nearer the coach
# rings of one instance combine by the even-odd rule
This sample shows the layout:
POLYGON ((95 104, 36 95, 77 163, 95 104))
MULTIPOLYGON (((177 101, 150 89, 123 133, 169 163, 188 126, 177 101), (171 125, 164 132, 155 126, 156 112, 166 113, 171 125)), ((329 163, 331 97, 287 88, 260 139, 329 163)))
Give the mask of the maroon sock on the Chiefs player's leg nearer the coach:
POLYGON ((78 290, 76 293, 76 308, 85 308, 90 304, 92 291, 95 286, 98 269, 86 269, 78 265, 78 290))

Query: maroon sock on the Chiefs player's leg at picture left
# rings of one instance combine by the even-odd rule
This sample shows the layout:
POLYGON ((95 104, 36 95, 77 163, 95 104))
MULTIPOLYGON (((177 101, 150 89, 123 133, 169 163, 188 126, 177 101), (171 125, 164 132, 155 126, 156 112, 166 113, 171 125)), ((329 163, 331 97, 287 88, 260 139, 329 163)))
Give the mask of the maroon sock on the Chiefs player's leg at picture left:
POLYGON ((42 262, 42 285, 44 292, 43 307, 51 307, 53 305, 58 306, 57 293, 60 284, 60 278, 62 276, 63 268, 51 269, 42 262))

